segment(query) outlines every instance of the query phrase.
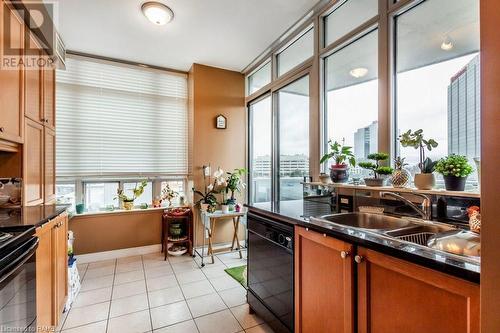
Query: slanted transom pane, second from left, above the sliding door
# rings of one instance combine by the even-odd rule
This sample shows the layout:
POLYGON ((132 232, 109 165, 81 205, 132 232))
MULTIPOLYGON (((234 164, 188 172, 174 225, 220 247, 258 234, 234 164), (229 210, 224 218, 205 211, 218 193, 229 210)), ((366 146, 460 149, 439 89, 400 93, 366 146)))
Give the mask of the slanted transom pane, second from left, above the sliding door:
POLYGON ((314 28, 307 30, 277 57, 278 76, 285 74, 314 54, 314 28))

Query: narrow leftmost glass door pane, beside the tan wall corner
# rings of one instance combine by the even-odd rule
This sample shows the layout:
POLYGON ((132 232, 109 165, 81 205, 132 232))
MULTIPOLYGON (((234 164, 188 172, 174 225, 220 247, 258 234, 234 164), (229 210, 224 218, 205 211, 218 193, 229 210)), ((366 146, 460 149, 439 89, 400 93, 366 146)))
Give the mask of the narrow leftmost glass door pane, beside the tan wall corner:
POLYGON ((272 107, 271 96, 249 106, 250 202, 272 200, 272 107))

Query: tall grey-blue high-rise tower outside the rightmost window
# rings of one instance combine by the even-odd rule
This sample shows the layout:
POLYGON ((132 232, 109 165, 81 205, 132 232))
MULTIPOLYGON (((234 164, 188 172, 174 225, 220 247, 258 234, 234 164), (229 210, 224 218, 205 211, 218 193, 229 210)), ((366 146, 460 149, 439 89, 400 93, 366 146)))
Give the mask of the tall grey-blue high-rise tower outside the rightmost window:
POLYGON ((480 156, 479 55, 448 86, 448 154, 480 156))

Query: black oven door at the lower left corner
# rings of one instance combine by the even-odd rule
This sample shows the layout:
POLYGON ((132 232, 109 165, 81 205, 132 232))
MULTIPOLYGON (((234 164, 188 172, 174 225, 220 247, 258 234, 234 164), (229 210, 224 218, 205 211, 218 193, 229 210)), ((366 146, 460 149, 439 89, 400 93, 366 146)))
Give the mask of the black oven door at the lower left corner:
POLYGON ((0 332, 35 332, 38 238, 0 259, 0 332))

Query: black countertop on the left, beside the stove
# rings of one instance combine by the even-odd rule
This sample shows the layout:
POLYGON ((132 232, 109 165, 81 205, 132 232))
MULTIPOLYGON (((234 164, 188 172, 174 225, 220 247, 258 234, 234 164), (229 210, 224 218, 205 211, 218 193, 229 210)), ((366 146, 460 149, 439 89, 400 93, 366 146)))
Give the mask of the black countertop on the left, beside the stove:
POLYGON ((65 212, 68 205, 38 205, 0 209, 0 229, 15 227, 39 227, 65 212))

